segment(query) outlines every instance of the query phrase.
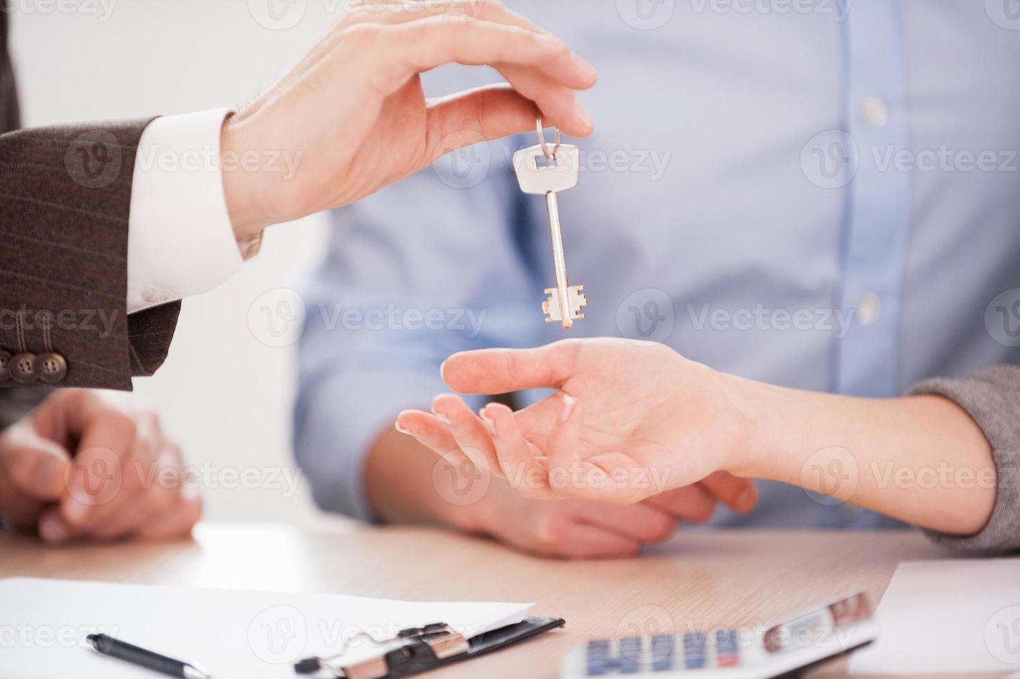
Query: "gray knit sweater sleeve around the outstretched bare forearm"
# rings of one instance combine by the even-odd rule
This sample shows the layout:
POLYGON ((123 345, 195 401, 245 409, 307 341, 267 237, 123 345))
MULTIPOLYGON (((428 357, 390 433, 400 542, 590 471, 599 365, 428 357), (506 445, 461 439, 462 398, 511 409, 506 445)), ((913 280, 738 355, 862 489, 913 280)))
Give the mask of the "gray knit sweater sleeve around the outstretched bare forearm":
POLYGON ((963 536, 925 533, 959 551, 1020 549, 1020 368, 994 366, 959 380, 925 380, 909 393, 946 396, 967 410, 991 443, 999 477, 996 507, 979 532, 963 536))

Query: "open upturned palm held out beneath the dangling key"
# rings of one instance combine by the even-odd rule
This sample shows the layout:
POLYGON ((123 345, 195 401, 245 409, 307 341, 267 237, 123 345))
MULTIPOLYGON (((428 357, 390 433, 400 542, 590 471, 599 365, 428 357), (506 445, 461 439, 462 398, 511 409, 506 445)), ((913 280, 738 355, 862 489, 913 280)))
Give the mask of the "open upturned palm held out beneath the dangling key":
POLYGON ((517 413, 490 403, 479 417, 443 394, 435 415, 398 419, 452 463, 467 457, 536 497, 640 501, 726 469, 742 436, 727 376, 661 344, 593 339, 467 351, 444 363, 443 378, 462 393, 556 389, 517 413))

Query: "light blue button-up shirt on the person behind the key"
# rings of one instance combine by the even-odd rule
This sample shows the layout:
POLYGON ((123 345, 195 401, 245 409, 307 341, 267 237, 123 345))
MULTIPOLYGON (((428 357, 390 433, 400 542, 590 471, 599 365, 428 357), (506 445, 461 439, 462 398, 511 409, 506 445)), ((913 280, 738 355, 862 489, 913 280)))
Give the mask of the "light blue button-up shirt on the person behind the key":
MULTIPOLYGON (((570 140, 580 184, 559 201, 586 319, 569 333, 543 322, 545 201, 519 192, 509 161, 533 134, 337 211, 305 291, 296 407, 315 499, 370 517, 367 450, 445 390, 440 362, 461 349, 650 338, 721 371, 863 396, 1016 362, 991 302, 1020 288, 1020 20, 994 4, 511 2, 601 75, 580 95, 598 130, 570 140)), ((494 81, 452 67, 425 86, 494 81)), ((713 523, 894 525, 760 488, 753 514, 713 523)))

